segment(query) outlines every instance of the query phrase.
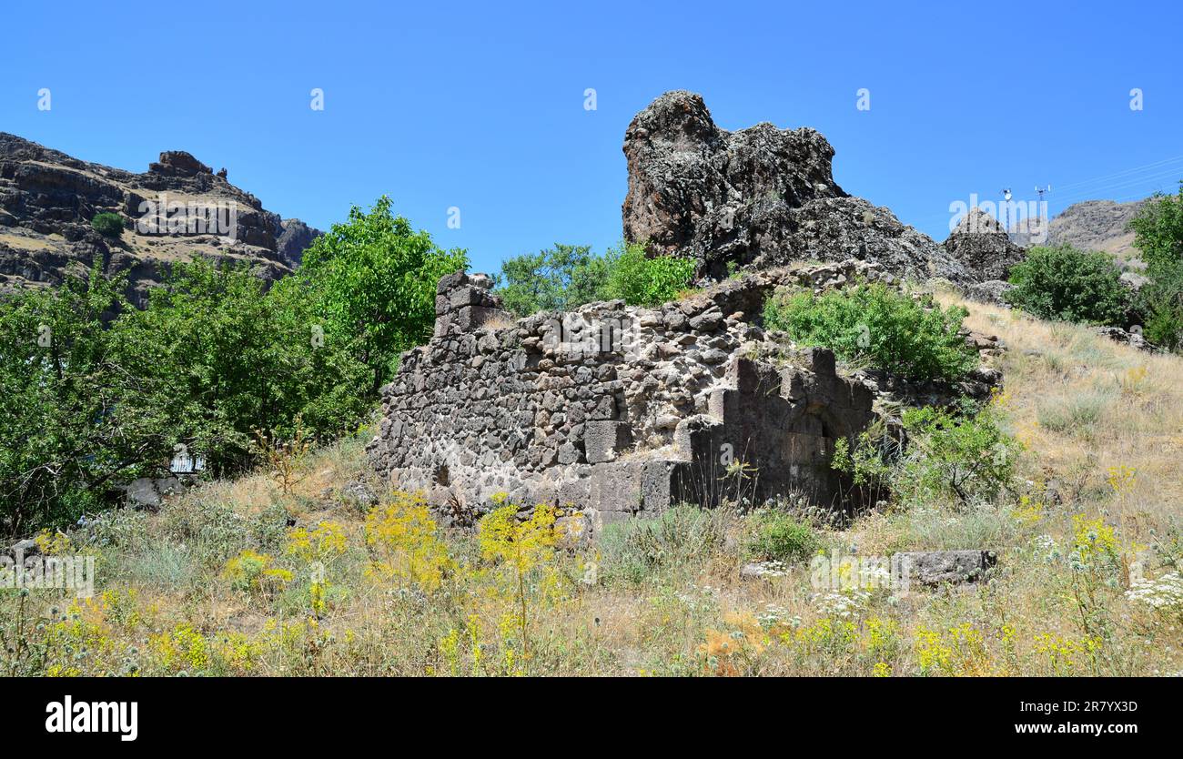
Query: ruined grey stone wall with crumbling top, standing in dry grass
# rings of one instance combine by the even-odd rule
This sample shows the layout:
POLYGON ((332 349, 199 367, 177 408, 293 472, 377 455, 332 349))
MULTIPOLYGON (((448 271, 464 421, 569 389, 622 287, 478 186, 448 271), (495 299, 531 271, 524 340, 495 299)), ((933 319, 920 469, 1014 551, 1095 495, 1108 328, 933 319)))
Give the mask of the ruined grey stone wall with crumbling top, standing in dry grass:
POLYGON ((487 277, 448 275, 434 337, 383 389, 371 459, 455 512, 500 492, 605 515, 789 492, 835 502, 834 441, 872 420, 873 394, 827 350, 757 359, 767 336, 751 322, 777 285, 856 275, 891 279, 855 261, 775 270, 660 309, 609 301, 516 322, 487 277), (729 478, 736 461, 748 474, 729 478))

